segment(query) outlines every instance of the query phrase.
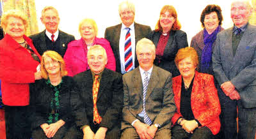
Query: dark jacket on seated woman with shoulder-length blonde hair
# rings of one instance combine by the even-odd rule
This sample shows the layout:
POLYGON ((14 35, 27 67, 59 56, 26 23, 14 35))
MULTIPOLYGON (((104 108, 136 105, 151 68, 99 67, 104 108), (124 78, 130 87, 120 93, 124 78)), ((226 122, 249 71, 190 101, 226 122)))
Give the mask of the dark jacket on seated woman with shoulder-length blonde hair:
MULTIPOLYGON (((49 113, 51 113, 52 89, 46 84, 45 79, 36 80, 35 84, 30 85, 30 107, 32 114, 29 117, 31 128, 40 127, 47 123, 49 113)), ((72 77, 62 77, 60 88, 60 119, 65 121, 65 126, 70 127, 75 124, 75 112, 84 113, 82 101, 79 99, 79 90, 72 77)))

